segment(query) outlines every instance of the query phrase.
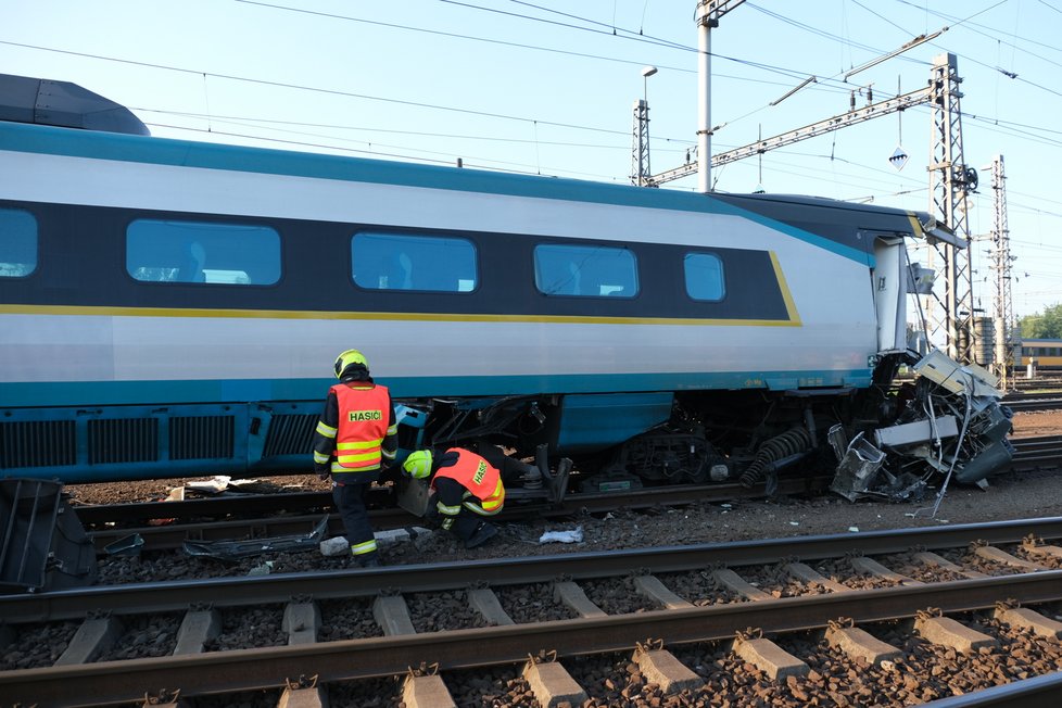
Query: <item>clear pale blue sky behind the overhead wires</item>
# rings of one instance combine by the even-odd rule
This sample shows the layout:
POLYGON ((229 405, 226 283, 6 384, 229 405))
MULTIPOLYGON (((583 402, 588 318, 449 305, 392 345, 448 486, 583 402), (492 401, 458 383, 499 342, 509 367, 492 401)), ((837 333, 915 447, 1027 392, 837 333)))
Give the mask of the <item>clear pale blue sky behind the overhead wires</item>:
MULTIPOLYGON (((696 144, 695 0, 0 0, 0 71, 75 81, 156 136, 628 182, 632 105, 647 93, 652 166, 696 144), (643 66, 659 72, 643 83, 643 66)), ((969 224, 993 228, 1002 154, 1016 316, 1062 303, 1062 0, 756 0, 712 30, 713 152, 922 88, 958 56, 969 224), (852 76, 922 34, 948 30, 852 76), (1011 77, 1009 74, 1015 74, 1011 77), (818 83, 775 106, 807 76, 818 83)), ((930 210, 925 106, 713 170, 762 187, 930 210), (902 146, 910 161, 888 157, 902 146)), ((670 189, 694 189, 695 178, 670 189)), ((974 295, 995 292, 974 248, 974 295)))

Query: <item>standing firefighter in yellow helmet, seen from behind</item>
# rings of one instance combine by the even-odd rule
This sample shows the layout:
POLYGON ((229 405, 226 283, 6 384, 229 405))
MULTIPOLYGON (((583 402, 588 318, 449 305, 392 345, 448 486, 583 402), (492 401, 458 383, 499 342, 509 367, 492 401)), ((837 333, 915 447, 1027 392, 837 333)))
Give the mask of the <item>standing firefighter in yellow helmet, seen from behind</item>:
POLYGON ((365 356, 355 349, 336 358, 339 383, 328 390, 314 433, 314 469, 332 479, 332 500, 343 518, 351 554, 365 568, 380 565, 365 492, 385 463, 394 459, 397 426, 391 393, 372 381, 365 356))

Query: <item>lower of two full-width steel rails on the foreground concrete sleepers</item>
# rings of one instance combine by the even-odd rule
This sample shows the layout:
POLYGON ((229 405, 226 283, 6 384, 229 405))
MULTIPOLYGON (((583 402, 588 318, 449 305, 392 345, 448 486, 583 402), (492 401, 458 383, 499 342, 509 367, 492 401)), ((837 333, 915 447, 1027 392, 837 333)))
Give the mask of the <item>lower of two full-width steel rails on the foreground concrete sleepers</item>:
POLYGON ((346 640, 206 655, 106 661, 0 673, 0 693, 14 703, 78 706, 132 701, 144 686, 179 688, 182 697, 281 687, 287 679, 351 681, 405 673, 421 661, 441 670, 524 661, 540 652, 560 658, 620 652, 639 642, 665 645, 733 639, 739 628, 764 633, 821 629, 838 618, 857 623, 910 618, 927 607, 982 610, 1004 598, 1034 604, 1062 598, 1062 571, 806 595, 755 603, 665 609, 425 634, 346 640), (490 652, 483 652, 483 647, 490 652), (78 703, 71 686, 85 696, 78 703))

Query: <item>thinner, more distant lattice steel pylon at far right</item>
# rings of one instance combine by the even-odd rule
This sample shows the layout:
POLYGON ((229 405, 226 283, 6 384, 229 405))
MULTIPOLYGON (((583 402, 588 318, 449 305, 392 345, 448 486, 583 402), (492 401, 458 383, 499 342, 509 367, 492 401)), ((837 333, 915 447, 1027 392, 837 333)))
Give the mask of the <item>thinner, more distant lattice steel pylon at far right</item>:
POLYGON ((996 307, 993 312, 996 330, 996 347, 993 357, 993 371, 1000 379, 1000 388, 1006 390, 1008 375, 1013 366, 1014 352, 1014 305, 1011 299, 1010 228, 1007 226, 1007 175, 1003 173, 1003 156, 996 155, 991 163, 993 229, 991 264, 996 274, 996 307))

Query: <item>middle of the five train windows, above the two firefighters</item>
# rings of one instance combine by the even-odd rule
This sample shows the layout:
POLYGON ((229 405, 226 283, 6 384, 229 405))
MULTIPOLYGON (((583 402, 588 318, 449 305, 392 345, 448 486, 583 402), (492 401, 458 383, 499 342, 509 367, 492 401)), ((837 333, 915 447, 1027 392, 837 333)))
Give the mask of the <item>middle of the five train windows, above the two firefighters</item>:
POLYGON ((442 236, 355 233, 351 273, 366 290, 471 292, 479 285, 472 242, 442 236))

